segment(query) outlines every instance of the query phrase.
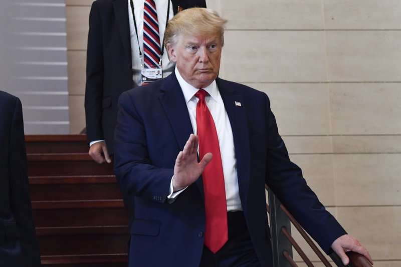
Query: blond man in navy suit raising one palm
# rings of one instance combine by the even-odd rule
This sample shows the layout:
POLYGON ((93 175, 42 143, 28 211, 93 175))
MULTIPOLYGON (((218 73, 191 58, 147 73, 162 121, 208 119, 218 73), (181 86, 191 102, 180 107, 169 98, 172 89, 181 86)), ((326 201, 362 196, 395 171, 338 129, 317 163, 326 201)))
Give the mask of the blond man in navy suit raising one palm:
POLYGON ((115 171, 135 199, 129 265, 272 266, 265 183, 325 252, 333 249, 344 263, 348 250, 371 260, 290 161, 267 95, 217 78, 226 22, 207 9, 180 12, 165 36, 174 73, 119 99, 115 171), (200 89, 207 92, 224 173, 228 240, 217 250, 204 244, 203 175, 218 156, 197 154, 198 141, 210 141, 194 134, 200 89))

